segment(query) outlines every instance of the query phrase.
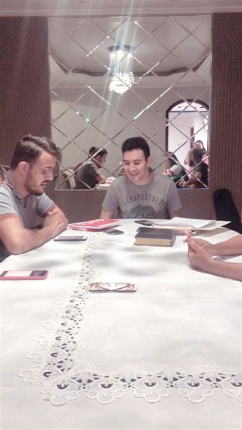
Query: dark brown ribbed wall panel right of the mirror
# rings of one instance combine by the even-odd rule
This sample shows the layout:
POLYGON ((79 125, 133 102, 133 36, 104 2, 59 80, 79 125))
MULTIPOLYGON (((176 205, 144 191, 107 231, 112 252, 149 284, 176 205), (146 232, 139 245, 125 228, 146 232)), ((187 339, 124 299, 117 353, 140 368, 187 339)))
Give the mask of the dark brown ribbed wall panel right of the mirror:
POLYGON ((212 15, 211 193, 228 188, 241 210, 242 14, 212 15))

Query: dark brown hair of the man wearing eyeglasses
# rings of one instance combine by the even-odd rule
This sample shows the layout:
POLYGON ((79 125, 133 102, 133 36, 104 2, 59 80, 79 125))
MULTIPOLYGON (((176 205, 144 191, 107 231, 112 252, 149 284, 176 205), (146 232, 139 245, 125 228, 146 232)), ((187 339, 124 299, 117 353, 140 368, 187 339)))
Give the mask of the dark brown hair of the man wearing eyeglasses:
POLYGON ((23 136, 18 141, 13 151, 10 169, 16 169, 17 165, 21 161, 26 161, 27 163, 34 163, 42 151, 46 151, 49 154, 54 155, 55 157, 59 155, 59 151, 56 145, 51 139, 49 139, 49 137, 32 136, 32 134, 23 136))

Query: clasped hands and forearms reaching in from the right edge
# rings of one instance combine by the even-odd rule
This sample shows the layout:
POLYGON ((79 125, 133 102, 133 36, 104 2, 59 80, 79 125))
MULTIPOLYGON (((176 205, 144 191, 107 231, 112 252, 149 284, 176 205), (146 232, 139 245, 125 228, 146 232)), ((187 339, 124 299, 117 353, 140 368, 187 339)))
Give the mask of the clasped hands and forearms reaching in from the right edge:
POLYGON ((193 239, 188 234, 188 238, 184 242, 188 243, 187 256, 190 266, 194 269, 226 278, 242 280, 241 264, 217 261, 212 258, 213 255, 241 255, 242 234, 215 245, 203 239, 193 239))

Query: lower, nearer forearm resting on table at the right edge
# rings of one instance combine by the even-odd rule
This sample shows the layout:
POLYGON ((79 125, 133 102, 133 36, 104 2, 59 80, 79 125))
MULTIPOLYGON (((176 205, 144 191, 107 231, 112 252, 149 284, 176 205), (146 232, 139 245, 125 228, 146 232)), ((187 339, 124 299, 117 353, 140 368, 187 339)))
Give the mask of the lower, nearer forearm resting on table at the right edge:
POLYGON ((239 263, 229 263, 211 259, 206 267, 206 272, 213 275, 224 276, 225 278, 242 280, 242 265, 239 263))

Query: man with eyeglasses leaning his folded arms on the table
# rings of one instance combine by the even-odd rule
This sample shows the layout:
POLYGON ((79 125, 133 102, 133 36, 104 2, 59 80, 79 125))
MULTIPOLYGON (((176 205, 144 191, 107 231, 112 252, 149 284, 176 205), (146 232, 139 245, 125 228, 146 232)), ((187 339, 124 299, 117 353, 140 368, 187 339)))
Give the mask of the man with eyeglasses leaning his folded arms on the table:
POLYGON ((43 136, 23 136, 0 188, 0 261, 43 245, 65 230, 62 210, 44 193, 53 180, 58 149, 43 136), (43 218, 36 228, 37 216, 43 218))

